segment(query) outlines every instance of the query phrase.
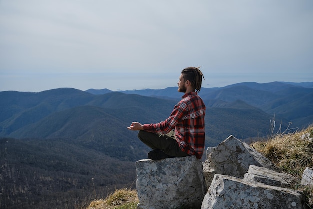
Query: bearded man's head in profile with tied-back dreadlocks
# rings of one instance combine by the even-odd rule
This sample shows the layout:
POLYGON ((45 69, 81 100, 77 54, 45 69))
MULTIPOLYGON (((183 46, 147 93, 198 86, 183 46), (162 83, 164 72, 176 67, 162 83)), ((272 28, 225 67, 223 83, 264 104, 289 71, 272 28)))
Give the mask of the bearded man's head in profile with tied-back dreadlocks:
POLYGON ((181 71, 181 75, 178 82, 178 91, 186 93, 190 89, 191 91, 199 92, 202 85, 202 77, 204 76, 199 70, 200 67, 188 67, 181 71))

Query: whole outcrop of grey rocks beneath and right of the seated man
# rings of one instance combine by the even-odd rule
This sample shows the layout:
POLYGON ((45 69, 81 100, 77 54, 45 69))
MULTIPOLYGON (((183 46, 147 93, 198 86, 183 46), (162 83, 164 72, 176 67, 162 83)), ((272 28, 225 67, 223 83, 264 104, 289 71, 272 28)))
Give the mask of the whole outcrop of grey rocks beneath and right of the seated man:
POLYGON ((302 193, 290 189, 295 178, 233 136, 200 164, 194 156, 138 161, 138 208, 303 208, 302 193))

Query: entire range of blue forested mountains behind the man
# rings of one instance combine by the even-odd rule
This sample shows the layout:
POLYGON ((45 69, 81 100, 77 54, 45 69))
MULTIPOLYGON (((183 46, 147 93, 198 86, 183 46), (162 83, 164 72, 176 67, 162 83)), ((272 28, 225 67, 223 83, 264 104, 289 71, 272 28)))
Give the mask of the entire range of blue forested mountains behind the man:
MULTIPOLYGON (((246 82, 199 95, 206 146, 229 135, 264 140, 313 122, 313 82, 246 82)), ((0 92, 0 208, 77 208, 135 187, 134 162, 149 149, 127 126, 166 119, 181 96, 177 87, 0 92)))

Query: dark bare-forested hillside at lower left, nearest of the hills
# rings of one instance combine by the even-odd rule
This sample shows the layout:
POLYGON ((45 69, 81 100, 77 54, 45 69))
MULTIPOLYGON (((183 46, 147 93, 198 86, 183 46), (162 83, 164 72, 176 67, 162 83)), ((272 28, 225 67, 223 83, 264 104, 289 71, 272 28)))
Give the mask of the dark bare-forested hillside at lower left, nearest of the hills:
POLYGON ((0 138, 0 208, 83 208, 135 188, 135 163, 64 139, 0 138))

